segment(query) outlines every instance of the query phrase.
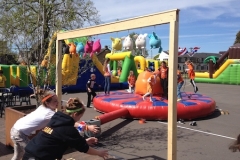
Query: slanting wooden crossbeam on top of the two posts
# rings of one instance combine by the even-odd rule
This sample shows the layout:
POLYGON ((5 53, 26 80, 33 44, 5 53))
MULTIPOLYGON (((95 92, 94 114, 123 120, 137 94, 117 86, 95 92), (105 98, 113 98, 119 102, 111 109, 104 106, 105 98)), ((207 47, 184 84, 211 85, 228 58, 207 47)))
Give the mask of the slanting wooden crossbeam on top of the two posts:
POLYGON ((165 12, 159 12, 141 17, 135 17, 122 21, 116 21, 113 23, 106 23, 102 25, 92 26, 88 28, 82 28, 77 30, 66 31, 58 33, 57 39, 64 40, 69 38, 77 38, 84 36, 99 35, 111 32, 119 32, 129 29, 149 27, 159 24, 167 24, 170 21, 176 20, 176 12, 178 10, 170 10, 165 12))

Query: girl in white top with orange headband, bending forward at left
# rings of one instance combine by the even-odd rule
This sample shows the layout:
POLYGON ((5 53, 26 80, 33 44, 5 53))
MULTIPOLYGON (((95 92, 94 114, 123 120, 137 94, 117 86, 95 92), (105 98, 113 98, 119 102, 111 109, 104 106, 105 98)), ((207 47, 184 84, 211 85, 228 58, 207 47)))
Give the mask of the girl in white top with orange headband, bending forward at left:
MULTIPOLYGON (((57 95, 49 90, 37 90, 36 94, 42 102, 36 110, 20 118, 13 125, 10 135, 14 144, 14 155, 12 160, 20 160, 24 154, 24 148, 29 142, 28 136, 37 130, 44 128, 51 117, 55 114, 58 107, 57 95)), ((76 123, 78 127, 79 123, 76 123)), ((94 131, 94 127, 88 126, 88 129, 94 131)), ((95 132, 95 131, 94 131, 95 132)))

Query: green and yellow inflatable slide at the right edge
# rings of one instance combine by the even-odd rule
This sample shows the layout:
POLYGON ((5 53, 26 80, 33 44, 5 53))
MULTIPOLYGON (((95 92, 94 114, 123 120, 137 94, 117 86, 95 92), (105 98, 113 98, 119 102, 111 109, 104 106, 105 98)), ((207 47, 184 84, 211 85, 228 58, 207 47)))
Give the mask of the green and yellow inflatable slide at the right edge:
POLYGON ((240 43, 229 47, 222 56, 210 56, 204 60, 208 63, 209 71, 206 73, 195 73, 196 82, 219 83, 219 84, 240 84, 240 43))

